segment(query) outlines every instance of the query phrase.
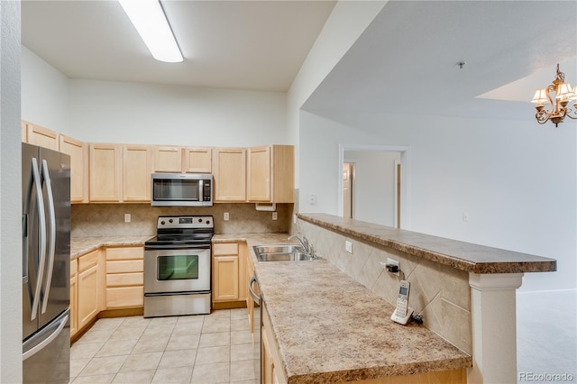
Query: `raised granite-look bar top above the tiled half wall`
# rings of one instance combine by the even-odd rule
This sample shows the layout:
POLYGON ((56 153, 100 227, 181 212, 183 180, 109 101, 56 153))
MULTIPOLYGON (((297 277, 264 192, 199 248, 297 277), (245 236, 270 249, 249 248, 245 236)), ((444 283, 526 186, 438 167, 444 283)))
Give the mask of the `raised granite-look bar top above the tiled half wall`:
POLYGON ((366 242, 405 251, 426 260, 473 273, 523 273, 557 270, 557 261, 517 251, 459 242, 326 214, 298 214, 298 218, 366 242))

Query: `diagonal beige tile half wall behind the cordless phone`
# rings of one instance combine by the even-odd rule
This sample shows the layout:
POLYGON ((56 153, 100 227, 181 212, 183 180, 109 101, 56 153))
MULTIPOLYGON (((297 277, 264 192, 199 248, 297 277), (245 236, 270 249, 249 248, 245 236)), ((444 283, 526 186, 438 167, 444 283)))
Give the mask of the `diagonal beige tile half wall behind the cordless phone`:
POLYGON ((296 229, 307 236, 315 246, 316 254, 393 306, 397 304, 399 278, 387 272, 381 262, 387 261, 388 257, 398 261, 405 279, 411 284, 409 306, 417 315, 423 315, 424 325, 463 352, 472 354, 471 295, 467 272, 362 242, 303 220, 298 220, 296 229), (345 251, 346 240, 353 242, 353 254, 345 251))

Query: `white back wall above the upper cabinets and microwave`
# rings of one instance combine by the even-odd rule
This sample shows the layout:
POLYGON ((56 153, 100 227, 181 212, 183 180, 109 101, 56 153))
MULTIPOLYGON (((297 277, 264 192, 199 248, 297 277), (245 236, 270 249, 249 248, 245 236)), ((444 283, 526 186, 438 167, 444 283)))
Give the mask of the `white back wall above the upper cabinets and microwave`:
POLYGON ((286 94, 70 81, 70 134, 87 142, 286 144, 286 94))

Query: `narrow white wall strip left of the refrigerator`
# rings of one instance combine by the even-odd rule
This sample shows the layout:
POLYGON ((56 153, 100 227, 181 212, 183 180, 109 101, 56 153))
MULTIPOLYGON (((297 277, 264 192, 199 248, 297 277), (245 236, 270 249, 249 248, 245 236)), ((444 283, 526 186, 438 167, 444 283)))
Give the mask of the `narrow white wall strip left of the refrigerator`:
POLYGON ((0 382, 22 381, 20 3, 0 2, 0 382))

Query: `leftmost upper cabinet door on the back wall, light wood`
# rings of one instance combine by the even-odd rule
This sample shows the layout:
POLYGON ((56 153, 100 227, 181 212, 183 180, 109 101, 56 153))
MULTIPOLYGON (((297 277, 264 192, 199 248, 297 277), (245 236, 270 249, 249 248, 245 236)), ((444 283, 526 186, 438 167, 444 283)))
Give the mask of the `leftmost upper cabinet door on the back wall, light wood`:
POLYGON ((90 201, 121 201, 120 163, 120 145, 90 144, 90 201))

